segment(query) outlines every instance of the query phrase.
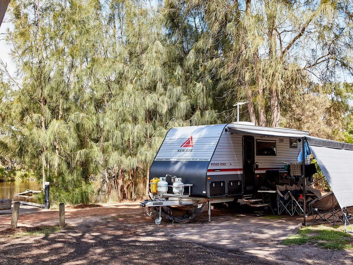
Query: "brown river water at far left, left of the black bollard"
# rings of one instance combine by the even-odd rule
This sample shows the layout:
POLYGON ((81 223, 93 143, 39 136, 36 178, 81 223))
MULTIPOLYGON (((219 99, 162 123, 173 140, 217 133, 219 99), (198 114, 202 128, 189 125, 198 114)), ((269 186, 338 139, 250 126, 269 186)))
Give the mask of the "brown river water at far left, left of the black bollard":
POLYGON ((16 193, 24 192, 26 189, 41 190, 41 185, 34 180, 17 180, 0 182, 0 199, 11 199, 12 201, 36 202, 34 196, 16 196, 16 193))

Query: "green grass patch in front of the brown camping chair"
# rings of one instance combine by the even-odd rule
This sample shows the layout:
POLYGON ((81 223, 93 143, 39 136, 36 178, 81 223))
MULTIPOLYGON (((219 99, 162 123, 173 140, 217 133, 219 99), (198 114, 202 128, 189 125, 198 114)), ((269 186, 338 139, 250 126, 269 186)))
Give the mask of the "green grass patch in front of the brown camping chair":
POLYGON ((284 245, 305 243, 317 244, 327 249, 353 249, 352 236, 337 226, 307 226, 300 229, 298 234, 289 236, 283 241, 284 245))

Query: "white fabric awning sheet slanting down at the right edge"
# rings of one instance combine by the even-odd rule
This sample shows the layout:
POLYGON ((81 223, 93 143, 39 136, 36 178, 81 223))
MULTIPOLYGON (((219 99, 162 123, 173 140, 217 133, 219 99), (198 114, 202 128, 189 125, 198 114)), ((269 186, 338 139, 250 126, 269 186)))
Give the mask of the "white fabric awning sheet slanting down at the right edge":
POLYGON ((311 136, 306 138, 341 208, 353 206, 353 145, 311 136))

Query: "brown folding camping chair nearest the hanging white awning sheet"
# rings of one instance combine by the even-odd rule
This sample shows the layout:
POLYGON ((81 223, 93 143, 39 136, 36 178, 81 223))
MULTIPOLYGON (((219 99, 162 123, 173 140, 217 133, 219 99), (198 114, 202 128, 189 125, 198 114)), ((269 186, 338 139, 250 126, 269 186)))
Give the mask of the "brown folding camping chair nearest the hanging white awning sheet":
POLYGON ((314 223, 322 220, 329 222, 331 225, 335 225, 336 222, 340 220, 344 223, 345 220, 339 213, 341 209, 337 209, 337 204, 338 202, 333 192, 310 202, 310 207, 312 209, 312 222, 314 223))

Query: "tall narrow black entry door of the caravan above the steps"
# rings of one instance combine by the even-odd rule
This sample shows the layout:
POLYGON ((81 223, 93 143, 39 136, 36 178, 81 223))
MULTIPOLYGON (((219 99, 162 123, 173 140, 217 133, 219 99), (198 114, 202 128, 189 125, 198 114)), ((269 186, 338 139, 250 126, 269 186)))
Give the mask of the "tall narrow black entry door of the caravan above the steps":
POLYGON ((252 193, 255 188, 255 139, 243 136, 243 178, 244 193, 252 193))

